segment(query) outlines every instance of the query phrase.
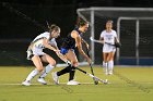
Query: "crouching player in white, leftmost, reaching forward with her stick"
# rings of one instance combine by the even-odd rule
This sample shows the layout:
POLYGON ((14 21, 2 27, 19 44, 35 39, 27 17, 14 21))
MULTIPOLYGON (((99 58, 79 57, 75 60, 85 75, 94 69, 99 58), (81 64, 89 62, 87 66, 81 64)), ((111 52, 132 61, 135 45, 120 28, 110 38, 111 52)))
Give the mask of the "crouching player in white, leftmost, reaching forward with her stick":
POLYGON ((30 75, 22 83, 22 85, 30 86, 32 78, 34 78, 40 72, 42 74, 37 80, 43 85, 47 84, 44 78, 55 67, 56 61, 50 55, 43 52, 43 49, 48 48, 55 51, 61 60, 68 62, 67 59, 59 52, 59 49, 57 47, 55 38, 57 38, 58 36, 60 36, 60 28, 56 25, 51 25, 49 27, 49 31, 45 31, 38 35, 31 42, 27 49, 27 60, 32 60, 36 68, 30 73, 30 75), (48 63, 48 65, 45 68, 43 67, 43 62, 48 63))

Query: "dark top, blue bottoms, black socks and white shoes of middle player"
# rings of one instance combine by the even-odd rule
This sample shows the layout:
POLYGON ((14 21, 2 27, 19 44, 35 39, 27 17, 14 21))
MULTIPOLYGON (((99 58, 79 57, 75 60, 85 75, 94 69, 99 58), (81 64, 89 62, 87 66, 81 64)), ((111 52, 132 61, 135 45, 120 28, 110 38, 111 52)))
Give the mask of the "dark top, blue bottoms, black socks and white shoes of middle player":
MULTIPOLYGON (((78 31, 79 36, 81 36, 81 31, 78 28, 75 28, 74 30, 78 31)), ((69 34, 62 42, 62 46, 60 48, 60 53, 67 54, 69 50, 72 50, 74 52, 75 47, 76 47, 75 39, 71 37, 71 34, 69 34)), ((70 73, 69 81, 67 85, 79 85, 80 84, 80 83, 73 80, 75 67, 71 66, 71 65, 67 66, 66 68, 63 68, 57 73, 52 73, 52 78, 54 78, 55 83, 59 84, 59 80, 58 80, 59 76, 61 76, 66 73, 70 73)))

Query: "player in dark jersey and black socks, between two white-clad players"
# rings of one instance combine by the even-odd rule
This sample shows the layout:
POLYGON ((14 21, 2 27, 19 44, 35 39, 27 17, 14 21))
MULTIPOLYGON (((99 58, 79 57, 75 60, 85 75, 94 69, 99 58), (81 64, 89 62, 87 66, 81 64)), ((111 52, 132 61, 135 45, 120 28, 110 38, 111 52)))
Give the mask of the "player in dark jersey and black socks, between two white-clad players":
MULTIPOLYGON (((79 50, 79 53, 83 55, 83 58, 85 58, 89 62, 89 64, 91 64, 91 59, 86 55, 86 53, 83 51, 82 49, 82 34, 84 34, 89 28, 89 23, 80 20, 79 22, 79 27, 74 28, 64 39, 60 52, 62 54, 64 54, 67 56, 67 59, 71 62, 71 66, 67 66, 66 68, 59 71, 59 72, 55 72, 52 73, 52 78, 55 80, 56 84, 59 84, 59 76, 69 73, 69 81, 67 83, 67 85, 79 85, 80 83, 74 80, 74 73, 75 73, 75 67, 79 66, 79 62, 78 62, 78 58, 74 53, 74 48, 76 47, 79 50)), ((86 47, 89 47, 89 45, 85 42, 86 47)))

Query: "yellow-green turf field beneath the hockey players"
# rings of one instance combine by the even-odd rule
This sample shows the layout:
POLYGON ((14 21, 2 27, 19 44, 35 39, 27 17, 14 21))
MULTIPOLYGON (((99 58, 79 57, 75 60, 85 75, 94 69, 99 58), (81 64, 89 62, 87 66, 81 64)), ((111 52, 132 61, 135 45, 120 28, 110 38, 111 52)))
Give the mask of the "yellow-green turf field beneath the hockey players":
MULTIPOLYGON (((105 76, 101 67, 95 75, 108 79, 109 85, 93 85, 93 79, 76 71, 78 86, 67 86, 68 75, 54 85, 51 74, 43 86, 35 77, 32 86, 20 85, 33 67, 0 66, 0 101, 153 101, 153 67, 116 67, 115 74, 105 76)), ((59 71, 61 68, 55 68, 59 71)), ((90 67, 82 67, 90 72, 90 67)))

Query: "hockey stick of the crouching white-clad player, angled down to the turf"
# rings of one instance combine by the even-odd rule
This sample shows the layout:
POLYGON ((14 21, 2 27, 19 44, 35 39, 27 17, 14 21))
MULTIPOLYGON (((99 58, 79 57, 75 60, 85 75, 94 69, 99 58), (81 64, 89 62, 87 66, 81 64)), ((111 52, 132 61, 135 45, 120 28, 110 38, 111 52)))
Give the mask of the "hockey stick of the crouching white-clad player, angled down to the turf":
POLYGON ((90 77, 92 77, 92 78, 95 79, 96 81, 101 81, 101 83, 103 83, 103 84, 108 84, 107 79, 103 80, 103 79, 101 79, 101 78, 98 78, 98 77, 96 77, 96 76, 94 76, 94 75, 92 75, 92 74, 90 74, 90 73, 87 73, 87 72, 85 72, 85 71, 83 71, 83 70, 81 70, 81 68, 79 68, 79 67, 76 67, 76 70, 79 70, 80 72, 82 72, 82 73, 89 75, 90 77))

